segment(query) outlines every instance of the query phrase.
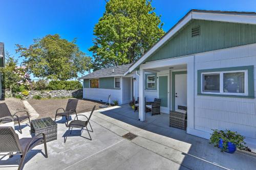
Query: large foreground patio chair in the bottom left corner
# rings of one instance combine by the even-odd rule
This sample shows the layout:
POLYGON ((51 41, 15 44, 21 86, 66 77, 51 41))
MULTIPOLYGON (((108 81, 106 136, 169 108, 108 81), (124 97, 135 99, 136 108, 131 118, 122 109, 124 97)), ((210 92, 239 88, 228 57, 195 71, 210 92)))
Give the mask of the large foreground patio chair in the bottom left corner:
MULTIPOLYGON (((18 138, 12 127, 0 127, 0 153, 8 153, 4 155, 20 155, 18 170, 23 169, 26 154, 32 150, 36 145, 44 143, 45 157, 48 157, 46 136, 44 133, 38 134, 32 138, 18 138)), ((0 154, 3 155, 3 154, 0 154)))

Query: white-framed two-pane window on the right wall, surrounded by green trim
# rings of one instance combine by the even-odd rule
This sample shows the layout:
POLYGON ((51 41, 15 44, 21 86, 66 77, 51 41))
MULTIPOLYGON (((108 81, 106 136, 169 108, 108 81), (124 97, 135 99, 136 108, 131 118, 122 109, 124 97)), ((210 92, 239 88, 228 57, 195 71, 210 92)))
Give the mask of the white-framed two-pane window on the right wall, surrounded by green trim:
POLYGON ((248 95, 248 71, 203 72, 202 88, 204 94, 248 95))

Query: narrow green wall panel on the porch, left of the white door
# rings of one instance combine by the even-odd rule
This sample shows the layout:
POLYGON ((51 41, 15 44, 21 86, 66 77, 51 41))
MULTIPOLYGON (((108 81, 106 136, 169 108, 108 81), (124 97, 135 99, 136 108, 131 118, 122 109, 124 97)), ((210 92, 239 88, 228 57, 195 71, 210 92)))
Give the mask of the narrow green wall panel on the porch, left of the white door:
POLYGON ((168 106, 168 76, 159 76, 159 99, 161 106, 168 106))

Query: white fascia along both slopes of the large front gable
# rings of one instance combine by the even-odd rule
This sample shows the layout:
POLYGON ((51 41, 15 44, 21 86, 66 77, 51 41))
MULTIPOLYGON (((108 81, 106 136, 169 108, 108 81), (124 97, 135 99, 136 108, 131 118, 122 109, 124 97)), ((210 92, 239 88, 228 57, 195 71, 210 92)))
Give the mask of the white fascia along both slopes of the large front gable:
POLYGON ((129 68, 129 72, 132 72, 140 64, 142 64, 148 57, 150 57, 156 50, 165 44, 170 38, 172 38, 179 30, 181 30, 190 20, 211 20, 211 21, 223 21, 245 24, 256 24, 255 12, 236 12, 236 11, 207 11, 207 10, 190 10, 183 18, 181 18, 176 25, 171 28, 162 38, 156 42, 150 49, 139 58, 138 61, 133 63, 129 68))

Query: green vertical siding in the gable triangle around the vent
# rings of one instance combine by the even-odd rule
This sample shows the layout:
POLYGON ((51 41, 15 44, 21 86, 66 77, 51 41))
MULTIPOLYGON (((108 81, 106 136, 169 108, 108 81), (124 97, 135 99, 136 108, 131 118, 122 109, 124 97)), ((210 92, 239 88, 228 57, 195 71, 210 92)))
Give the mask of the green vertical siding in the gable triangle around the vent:
POLYGON ((148 57, 146 62, 252 43, 256 43, 255 25, 191 20, 173 38, 148 57), (197 26, 200 26, 200 36, 191 37, 191 29, 197 26))

